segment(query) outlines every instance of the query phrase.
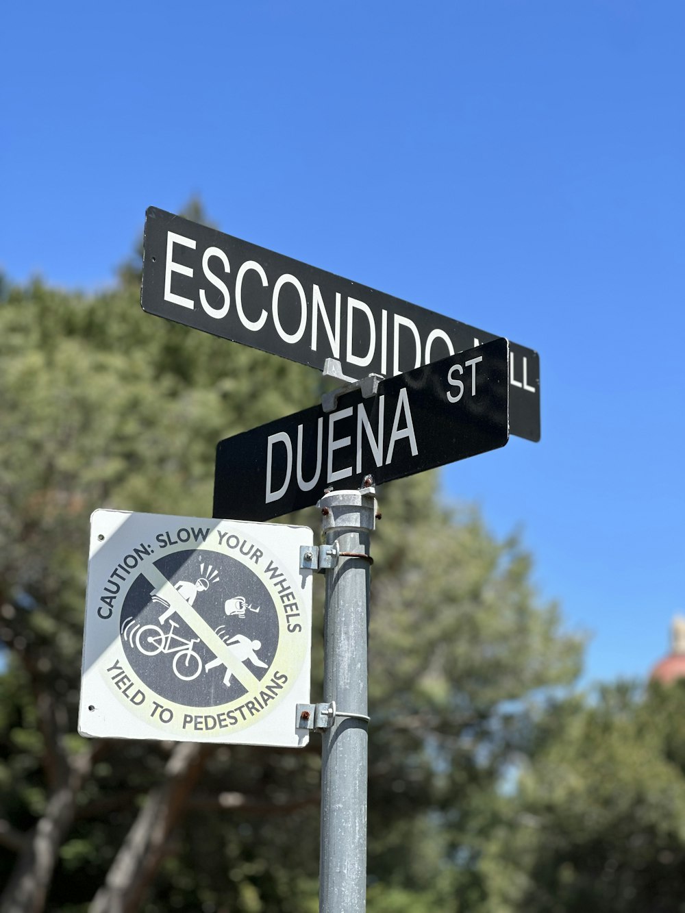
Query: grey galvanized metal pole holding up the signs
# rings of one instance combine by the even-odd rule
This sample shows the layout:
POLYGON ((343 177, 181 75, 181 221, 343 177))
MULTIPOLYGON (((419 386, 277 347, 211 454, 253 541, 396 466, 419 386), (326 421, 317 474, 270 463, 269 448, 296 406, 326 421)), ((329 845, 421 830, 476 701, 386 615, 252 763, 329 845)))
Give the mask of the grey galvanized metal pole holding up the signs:
POLYGON ((333 491, 319 501, 326 544, 323 699, 340 714, 323 732, 320 913, 366 909, 367 666, 369 554, 374 489, 333 491), (343 716, 354 714, 362 719, 343 716), (366 718, 366 719, 364 719, 366 718))

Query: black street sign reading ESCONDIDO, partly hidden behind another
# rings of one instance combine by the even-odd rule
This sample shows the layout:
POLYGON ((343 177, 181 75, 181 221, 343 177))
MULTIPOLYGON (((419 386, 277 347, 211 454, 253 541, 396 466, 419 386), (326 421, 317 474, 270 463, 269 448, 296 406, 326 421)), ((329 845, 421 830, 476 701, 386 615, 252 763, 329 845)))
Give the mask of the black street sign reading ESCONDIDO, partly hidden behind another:
MULTIPOLYGON (((142 310, 323 369, 392 377, 498 337, 151 206, 142 310)), ((511 434, 540 440, 540 360, 511 343, 511 434)))

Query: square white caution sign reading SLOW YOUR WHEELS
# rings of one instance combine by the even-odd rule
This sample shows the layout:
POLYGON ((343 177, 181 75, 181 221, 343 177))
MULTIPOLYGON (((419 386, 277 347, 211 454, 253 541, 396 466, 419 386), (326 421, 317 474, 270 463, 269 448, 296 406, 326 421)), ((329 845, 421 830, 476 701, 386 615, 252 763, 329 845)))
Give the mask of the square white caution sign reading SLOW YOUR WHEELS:
POLYGON ((299 747, 306 527, 96 510, 79 732, 299 747))

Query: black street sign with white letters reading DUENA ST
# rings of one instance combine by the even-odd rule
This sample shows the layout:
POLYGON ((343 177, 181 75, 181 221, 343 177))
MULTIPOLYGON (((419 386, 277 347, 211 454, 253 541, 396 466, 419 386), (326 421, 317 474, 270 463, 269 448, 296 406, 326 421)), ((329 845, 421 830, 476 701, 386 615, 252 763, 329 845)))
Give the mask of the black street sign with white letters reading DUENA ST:
POLYGON ((382 484, 504 446, 509 343, 449 355, 343 394, 216 447, 214 516, 269 520, 310 507, 326 488, 382 484))

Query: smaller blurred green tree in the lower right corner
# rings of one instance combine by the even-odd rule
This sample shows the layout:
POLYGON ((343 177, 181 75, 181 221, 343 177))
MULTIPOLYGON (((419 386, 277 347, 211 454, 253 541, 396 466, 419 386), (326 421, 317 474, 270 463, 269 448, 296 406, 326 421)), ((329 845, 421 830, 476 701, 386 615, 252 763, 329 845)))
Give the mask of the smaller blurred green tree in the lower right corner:
POLYGON ((490 911, 682 913, 685 682, 554 708, 482 863, 490 911))

